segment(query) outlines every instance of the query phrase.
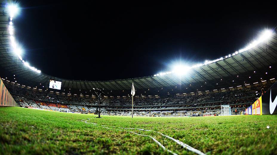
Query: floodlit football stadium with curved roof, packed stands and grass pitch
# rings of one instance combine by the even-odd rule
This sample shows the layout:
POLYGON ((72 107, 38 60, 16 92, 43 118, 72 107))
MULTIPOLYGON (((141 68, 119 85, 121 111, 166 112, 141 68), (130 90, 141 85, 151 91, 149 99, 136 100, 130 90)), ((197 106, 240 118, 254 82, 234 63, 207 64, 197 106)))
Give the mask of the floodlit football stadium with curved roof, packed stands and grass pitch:
POLYGON ((192 66, 81 81, 25 61, 18 8, 0 9, 0 154, 276 154, 276 29, 192 66))

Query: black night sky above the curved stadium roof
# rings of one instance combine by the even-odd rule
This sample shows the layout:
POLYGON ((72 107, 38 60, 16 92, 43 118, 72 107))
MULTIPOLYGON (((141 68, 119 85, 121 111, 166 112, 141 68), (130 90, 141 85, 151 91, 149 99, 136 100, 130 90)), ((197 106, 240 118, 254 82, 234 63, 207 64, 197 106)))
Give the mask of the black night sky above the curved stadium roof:
POLYGON ((243 48, 277 26, 276 10, 187 10, 20 1, 14 20, 23 59, 73 80, 116 80, 170 71, 243 48))

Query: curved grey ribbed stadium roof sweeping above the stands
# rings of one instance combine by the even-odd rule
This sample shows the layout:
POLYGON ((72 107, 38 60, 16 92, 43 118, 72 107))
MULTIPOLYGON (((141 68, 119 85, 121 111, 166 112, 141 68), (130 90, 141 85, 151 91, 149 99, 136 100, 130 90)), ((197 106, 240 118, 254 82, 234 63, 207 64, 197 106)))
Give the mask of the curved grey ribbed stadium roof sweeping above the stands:
MULTIPOLYGON (((133 79, 111 80, 111 81, 77 81, 67 80, 43 72, 36 72, 30 67, 24 65, 20 58, 15 54, 10 45, 10 34, 8 31, 10 17, 1 4, 0 8, 0 67, 5 76, 16 75, 18 83, 27 86, 49 86, 50 80, 61 81, 62 89, 80 89, 92 90, 93 88, 104 88, 107 91, 121 92, 130 90, 132 82, 136 89, 141 90, 160 90, 162 88, 169 91, 173 88, 178 90, 187 87, 200 88, 200 86, 215 87, 221 79, 236 80, 237 83, 245 82, 249 76, 253 75, 253 71, 263 72, 269 66, 276 66, 277 63, 277 37, 274 32, 272 37, 266 42, 262 42, 255 47, 229 56, 222 60, 206 64, 200 67, 190 69, 187 75, 181 78, 175 73, 165 74, 161 76, 149 76, 133 79), (182 87, 182 88, 181 88, 182 87)), ((61 67, 62 68, 62 67, 61 67)), ((275 67, 274 67, 275 68, 275 67)), ((91 71, 88 71, 91 72, 91 71)), ((256 74, 257 75, 257 74, 256 74)), ((276 75, 272 72, 271 75, 276 75)), ((97 73, 96 75, 97 76, 97 73)), ((257 75, 259 77, 259 75, 257 75)), ((255 79, 256 80, 256 79, 255 79)), ((222 85, 223 83, 221 83, 222 85)), ((242 83, 243 84, 243 83, 242 83)), ((223 85, 232 85, 230 81, 223 85)), ((128 91, 129 92, 129 91, 128 91)), ((142 91, 141 91, 142 92, 142 91)), ((169 93, 169 92, 168 92, 169 93)))

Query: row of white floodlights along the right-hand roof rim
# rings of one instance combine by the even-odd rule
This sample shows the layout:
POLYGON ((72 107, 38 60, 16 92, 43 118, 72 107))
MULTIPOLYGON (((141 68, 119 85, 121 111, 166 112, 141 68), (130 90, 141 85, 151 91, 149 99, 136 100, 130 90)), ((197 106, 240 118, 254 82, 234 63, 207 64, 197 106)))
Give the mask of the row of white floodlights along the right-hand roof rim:
MULTIPOLYGON (((201 66, 204 66, 204 65, 207 65, 207 64, 211 64, 211 63, 214 63, 214 62, 217 62, 217 61, 220 61, 220 60, 223 60, 223 59, 226 59, 226 58, 229 58, 231 56, 236 56, 237 54, 239 53, 242 53, 242 52, 245 52, 247 50, 250 50, 252 49, 253 47, 257 46, 258 44, 262 43, 262 42, 265 42, 267 41, 268 39, 270 39, 270 37, 273 35, 273 31, 272 30, 264 30, 261 35, 258 37, 257 40, 254 40, 253 42, 251 42, 249 45, 247 45, 245 48, 243 49, 240 49, 238 51, 235 51, 234 53, 231 53, 227 56, 224 56, 224 57, 221 57, 221 58, 217 58, 215 60, 205 60, 205 62, 203 64, 196 64, 196 65, 193 65, 191 67, 188 67, 189 69, 192 69, 192 68, 196 68, 196 67, 201 67, 201 66)), ((173 72, 172 72, 173 73, 173 72)), ((163 74, 156 74, 156 76, 159 76, 159 75, 163 75, 163 74)), ((250 78, 250 77, 249 77, 250 78)))

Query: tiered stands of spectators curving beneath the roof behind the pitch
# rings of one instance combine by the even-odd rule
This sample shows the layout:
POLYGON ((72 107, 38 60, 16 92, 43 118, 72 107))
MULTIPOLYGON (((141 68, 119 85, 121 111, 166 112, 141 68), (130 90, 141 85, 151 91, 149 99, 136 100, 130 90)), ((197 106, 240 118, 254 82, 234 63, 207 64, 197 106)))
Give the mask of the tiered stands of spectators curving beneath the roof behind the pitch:
MULTIPOLYGON (((59 95, 53 91, 21 88, 18 85, 10 83, 6 83, 6 86, 21 106, 59 110, 59 105, 67 105, 66 108, 72 112, 94 113, 96 111, 97 98, 95 97, 59 95), (38 101, 45 104, 38 104, 38 101), (94 107, 92 107, 93 105, 94 107)), ((267 90, 269 85, 264 85, 263 88, 267 90)), ((185 113, 191 111, 193 112, 190 113, 191 115, 199 116, 203 115, 206 110, 219 110, 220 105, 230 105, 231 108, 245 109, 260 95, 260 89, 261 87, 256 86, 209 94, 164 98, 136 98, 134 106, 137 110, 136 112, 141 113, 141 115, 151 112, 153 114, 153 111, 157 111, 160 115, 176 115, 177 113, 184 114, 184 112, 180 112, 183 110, 185 113)), ((110 111, 112 113, 127 114, 130 113, 131 98, 104 98, 101 106, 106 107, 107 113, 110 111)))

